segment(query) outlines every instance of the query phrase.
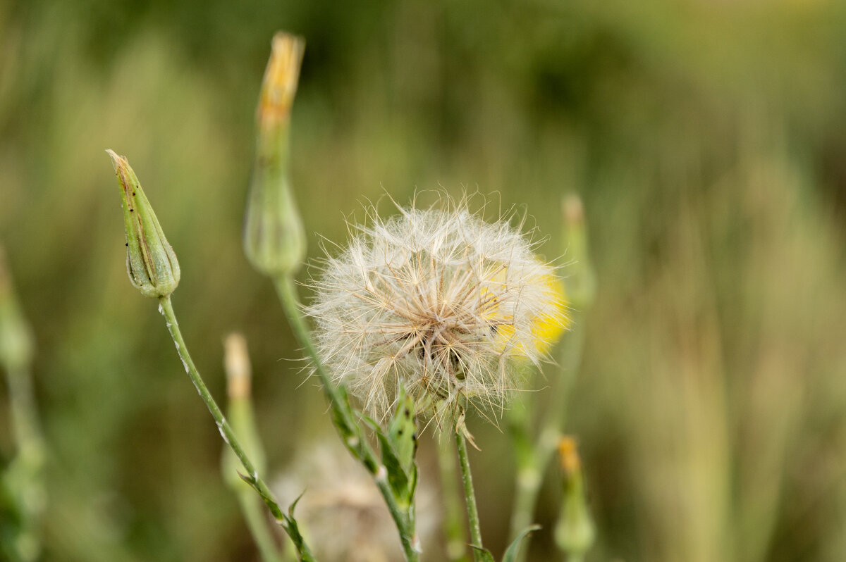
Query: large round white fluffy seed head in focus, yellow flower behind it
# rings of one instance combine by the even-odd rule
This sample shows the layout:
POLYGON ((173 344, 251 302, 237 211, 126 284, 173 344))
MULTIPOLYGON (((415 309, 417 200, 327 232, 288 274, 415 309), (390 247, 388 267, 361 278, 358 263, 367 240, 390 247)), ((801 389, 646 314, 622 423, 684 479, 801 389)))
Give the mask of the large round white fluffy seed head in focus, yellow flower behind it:
POLYGON ((465 202, 399 211, 371 210, 314 281, 322 362, 378 419, 400 385, 436 417, 503 407, 519 363, 539 363, 566 326, 553 268, 507 218, 465 202))

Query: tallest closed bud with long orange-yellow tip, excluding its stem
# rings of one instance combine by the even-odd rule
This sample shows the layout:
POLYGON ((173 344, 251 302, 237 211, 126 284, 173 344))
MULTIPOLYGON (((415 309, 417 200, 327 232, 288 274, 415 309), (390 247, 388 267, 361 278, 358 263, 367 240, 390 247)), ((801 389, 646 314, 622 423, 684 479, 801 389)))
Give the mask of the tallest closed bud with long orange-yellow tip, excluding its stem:
POLYGON ((305 231, 288 177, 291 105, 305 41, 277 33, 256 112, 255 163, 244 218, 244 252, 266 276, 292 275, 305 258, 305 231))

